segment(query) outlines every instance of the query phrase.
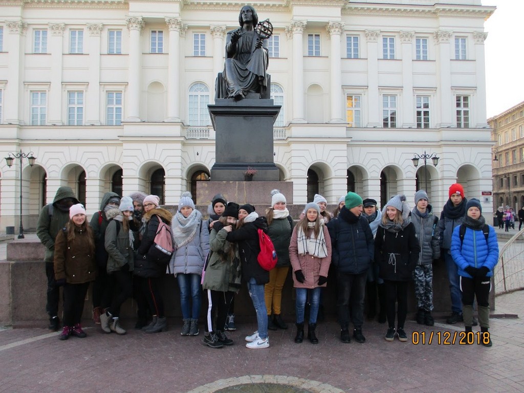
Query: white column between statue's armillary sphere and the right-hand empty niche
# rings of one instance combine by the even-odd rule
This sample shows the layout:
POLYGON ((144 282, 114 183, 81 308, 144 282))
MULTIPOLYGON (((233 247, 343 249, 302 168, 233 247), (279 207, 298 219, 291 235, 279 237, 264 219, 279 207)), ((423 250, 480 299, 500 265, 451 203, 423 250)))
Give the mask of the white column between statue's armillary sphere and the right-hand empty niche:
POLYGON ((292 72, 292 121, 291 123, 305 123, 304 118, 304 50, 302 47, 302 37, 306 20, 291 20, 291 24, 286 26, 286 36, 293 38, 293 72, 292 72))

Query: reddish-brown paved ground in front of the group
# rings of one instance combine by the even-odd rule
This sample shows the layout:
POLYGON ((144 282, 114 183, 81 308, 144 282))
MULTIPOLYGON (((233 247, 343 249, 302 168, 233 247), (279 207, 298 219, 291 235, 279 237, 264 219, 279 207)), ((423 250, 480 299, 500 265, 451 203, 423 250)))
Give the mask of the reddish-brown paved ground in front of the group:
MULTIPOLYGON (((497 297, 500 310, 524 315, 524 291, 497 297)), ((125 336, 104 334, 91 325, 88 337, 67 341, 43 328, 7 329, 0 331, 0 392, 210 393, 227 384, 256 381, 311 386, 326 393, 524 391, 520 318, 490 321, 491 348, 461 345, 458 338, 455 344, 444 344, 445 332, 453 337, 463 326, 443 321, 438 318, 433 328, 409 321, 408 334, 420 332, 417 345, 411 336, 407 343, 386 342, 386 326, 376 322, 364 325, 366 343, 343 344, 338 325, 328 321, 318 326, 318 345, 295 344, 290 328, 270 332, 271 346, 263 350, 244 346, 244 336, 255 329, 254 318, 239 320, 239 329, 230 332, 235 344, 220 349, 202 345, 202 333, 181 336, 180 321, 170 321, 166 333, 129 329, 125 336), (428 344, 431 332, 433 342, 428 344)))

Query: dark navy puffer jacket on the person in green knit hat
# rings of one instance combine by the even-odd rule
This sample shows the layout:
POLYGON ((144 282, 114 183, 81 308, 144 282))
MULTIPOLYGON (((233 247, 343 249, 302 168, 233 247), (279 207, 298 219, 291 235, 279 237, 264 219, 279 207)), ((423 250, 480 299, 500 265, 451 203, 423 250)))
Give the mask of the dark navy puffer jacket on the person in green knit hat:
POLYGON ((341 273, 361 274, 373 261, 373 233, 365 217, 342 208, 336 220, 328 224, 331 237, 331 261, 341 273))

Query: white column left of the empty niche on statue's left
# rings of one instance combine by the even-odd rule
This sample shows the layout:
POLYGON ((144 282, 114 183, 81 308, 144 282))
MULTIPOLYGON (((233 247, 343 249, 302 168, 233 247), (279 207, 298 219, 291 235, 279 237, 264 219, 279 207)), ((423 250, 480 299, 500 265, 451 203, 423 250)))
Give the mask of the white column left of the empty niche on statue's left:
POLYGON ((129 30, 129 66, 128 66, 128 101, 127 122, 140 121, 140 31, 144 27, 141 16, 127 16, 126 26, 129 30))

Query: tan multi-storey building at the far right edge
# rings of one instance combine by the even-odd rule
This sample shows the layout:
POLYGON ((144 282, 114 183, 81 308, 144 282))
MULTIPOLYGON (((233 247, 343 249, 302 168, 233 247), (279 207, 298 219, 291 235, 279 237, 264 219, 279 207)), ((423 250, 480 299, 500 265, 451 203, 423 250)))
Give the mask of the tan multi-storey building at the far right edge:
POLYGON ((493 209, 524 206, 524 102, 490 117, 493 140, 493 209))

